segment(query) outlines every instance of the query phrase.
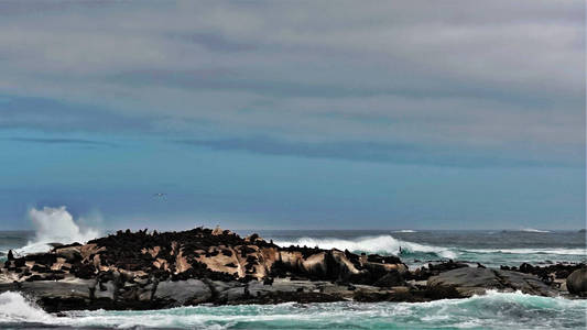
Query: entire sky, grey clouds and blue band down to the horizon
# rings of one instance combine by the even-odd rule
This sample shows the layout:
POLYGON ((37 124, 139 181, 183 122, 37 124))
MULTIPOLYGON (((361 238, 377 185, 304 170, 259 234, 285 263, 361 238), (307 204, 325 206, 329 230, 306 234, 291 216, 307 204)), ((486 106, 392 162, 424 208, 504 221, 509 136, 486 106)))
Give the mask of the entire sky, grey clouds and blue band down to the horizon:
POLYGON ((585 46, 580 0, 1 1, 0 230, 585 228, 585 46))

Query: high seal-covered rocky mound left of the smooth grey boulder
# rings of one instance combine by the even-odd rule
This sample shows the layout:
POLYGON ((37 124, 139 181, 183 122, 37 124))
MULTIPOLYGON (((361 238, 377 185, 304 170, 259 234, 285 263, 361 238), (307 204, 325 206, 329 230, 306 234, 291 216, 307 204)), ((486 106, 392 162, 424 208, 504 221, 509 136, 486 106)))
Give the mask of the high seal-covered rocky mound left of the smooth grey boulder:
POLYGON ((0 292, 20 290, 47 310, 334 301, 404 285, 395 256, 281 248, 257 234, 196 228, 119 231, 87 244, 9 260, 0 292))

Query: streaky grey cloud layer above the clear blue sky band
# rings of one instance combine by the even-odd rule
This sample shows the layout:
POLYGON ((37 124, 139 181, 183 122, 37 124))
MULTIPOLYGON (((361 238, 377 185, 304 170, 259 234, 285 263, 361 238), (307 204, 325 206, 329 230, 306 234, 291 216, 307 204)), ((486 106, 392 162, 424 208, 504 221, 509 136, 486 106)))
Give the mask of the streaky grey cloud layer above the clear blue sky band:
POLYGON ((0 92, 63 106, 0 105, 0 128, 584 153, 583 1, 4 1, 0 15, 0 92))

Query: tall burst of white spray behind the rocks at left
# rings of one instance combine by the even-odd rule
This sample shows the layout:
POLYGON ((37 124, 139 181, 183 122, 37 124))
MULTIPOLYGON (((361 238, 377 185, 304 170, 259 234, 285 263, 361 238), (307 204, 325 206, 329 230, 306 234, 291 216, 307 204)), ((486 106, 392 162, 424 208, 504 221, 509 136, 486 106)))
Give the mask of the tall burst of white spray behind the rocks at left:
POLYGON ((80 228, 64 206, 44 207, 40 210, 32 208, 29 210, 29 218, 35 228, 35 238, 25 246, 14 250, 20 255, 46 252, 51 250, 51 243, 85 243, 100 234, 96 229, 80 228))

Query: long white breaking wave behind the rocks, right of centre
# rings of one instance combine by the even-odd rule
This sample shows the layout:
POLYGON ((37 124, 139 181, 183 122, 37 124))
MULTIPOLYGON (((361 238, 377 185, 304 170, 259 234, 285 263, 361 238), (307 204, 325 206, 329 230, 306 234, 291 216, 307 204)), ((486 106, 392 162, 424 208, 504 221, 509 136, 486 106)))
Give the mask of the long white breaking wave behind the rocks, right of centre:
POLYGON ((406 253, 425 253, 435 254, 439 257, 455 258, 457 253, 448 248, 425 245, 409 241, 400 241, 392 235, 379 235, 379 237, 365 237, 355 240, 344 240, 334 238, 300 238, 293 241, 280 241, 274 242, 281 246, 300 245, 320 249, 338 249, 349 250, 352 252, 366 252, 366 253, 381 253, 381 254, 406 254, 406 253), (401 251, 400 251, 401 248, 401 251))

